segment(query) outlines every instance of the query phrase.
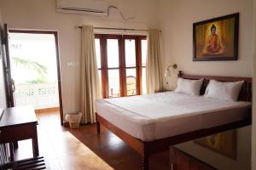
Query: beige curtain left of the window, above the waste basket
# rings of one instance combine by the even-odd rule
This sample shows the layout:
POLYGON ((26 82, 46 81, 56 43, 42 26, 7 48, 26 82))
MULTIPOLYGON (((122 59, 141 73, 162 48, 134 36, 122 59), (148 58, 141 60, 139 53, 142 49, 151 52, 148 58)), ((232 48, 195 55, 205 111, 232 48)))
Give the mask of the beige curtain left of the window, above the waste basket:
POLYGON ((82 26, 81 112, 82 123, 96 122, 95 99, 101 98, 93 26, 82 26))

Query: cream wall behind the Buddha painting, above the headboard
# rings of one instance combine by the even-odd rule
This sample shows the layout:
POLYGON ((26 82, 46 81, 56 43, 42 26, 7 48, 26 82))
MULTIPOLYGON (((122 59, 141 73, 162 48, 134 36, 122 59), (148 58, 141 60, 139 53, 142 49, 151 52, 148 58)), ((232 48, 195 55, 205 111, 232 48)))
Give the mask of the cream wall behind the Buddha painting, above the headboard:
MULTIPOLYGON (((162 0, 159 11, 164 37, 164 69, 168 64, 176 63, 179 70, 189 74, 252 76, 253 0, 193 0, 193 3, 189 0, 162 0), (192 61, 193 23, 237 12, 240 12, 239 59, 192 61)), ((172 88, 175 85, 172 83, 172 88)))

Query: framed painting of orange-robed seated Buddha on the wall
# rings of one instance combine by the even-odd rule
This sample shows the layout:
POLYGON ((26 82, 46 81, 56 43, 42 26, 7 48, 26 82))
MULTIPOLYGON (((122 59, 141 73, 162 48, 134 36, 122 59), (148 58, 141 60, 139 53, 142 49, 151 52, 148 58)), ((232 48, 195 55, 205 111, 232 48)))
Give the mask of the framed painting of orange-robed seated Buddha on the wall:
POLYGON ((194 61, 236 60, 239 13, 193 24, 194 61))

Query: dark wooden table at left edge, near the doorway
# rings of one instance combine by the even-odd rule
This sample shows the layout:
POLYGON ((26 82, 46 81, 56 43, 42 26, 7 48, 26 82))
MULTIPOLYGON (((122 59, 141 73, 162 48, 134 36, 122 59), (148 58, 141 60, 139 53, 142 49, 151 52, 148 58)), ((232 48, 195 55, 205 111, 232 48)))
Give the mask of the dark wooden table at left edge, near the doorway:
POLYGON ((39 156, 37 125, 38 119, 32 106, 4 110, 0 121, 0 144, 9 143, 11 161, 14 161, 13 143, 19 140, 32 139, 33 156, 39 156))

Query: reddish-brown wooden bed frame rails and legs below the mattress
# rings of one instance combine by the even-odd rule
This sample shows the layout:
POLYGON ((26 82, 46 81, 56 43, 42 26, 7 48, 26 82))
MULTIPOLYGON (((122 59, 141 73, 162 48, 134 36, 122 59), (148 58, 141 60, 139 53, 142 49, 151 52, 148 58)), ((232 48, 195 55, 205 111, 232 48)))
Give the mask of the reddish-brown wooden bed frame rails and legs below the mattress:
POLYGON ((218 127, 201 129, 195 132, 183 133, 177 136, 168 137, 166 139, 157 139, 150 142, 143 142, 140 139, 132 137, 130 134, 125 133, 119 127, 114 126, 111 122, 108 122, 106 119, 104 119, 102 116, 99 116, 96 113, 96 132, 98 134, 100 134, 100 131, 101 131, 101 128, 100 128, 101 124, 104 127, 107 127, 112 133, 117 135, 120 139, 124 140, 126 144, 131 146, 131 148, 133 148, 134 150, 137 150, 137 152, 142 156, 141 169, 148 170, 149 156, 164 150, 168 150, 170 145, 180 144, 193 139, 206 137, 214 133, 220 133, 220 132, 224 132, 224 131, 238 128, 238 127, 245 127, 251 124, 251 117, 248 116, 245 120, 228 123, 218 127))

